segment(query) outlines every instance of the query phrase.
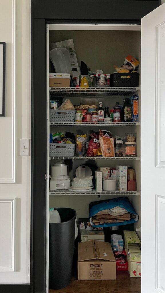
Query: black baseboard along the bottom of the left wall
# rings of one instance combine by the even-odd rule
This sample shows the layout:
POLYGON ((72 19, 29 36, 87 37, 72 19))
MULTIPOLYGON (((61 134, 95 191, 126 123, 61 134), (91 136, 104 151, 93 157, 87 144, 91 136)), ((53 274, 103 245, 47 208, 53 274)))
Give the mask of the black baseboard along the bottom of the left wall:
POLYGON ((30 293, 30 284, 0 284, 1 293, 30 293))

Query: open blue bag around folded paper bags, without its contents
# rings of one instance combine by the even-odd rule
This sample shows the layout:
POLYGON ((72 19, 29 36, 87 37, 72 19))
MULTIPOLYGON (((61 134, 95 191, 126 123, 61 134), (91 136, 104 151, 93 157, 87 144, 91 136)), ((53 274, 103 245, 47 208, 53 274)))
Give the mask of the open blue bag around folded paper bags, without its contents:
POLYGON ((90 224, 93 227, 112 227, 112 226, 121 226, 121 225, 136 223, 139 219, 139 216, 137 212, 134 210, 133 206, 131 205, 127 197, 117 197, 117 198, 112 198, 110 200, 101 200, 101 201, 91 202, 89 205, 89 219, 90 219, 90 224), (129 213, 134 214, 136 217, 134 219, 130 219, 128 221, 124 221, 121 223, 104 223, 100 225, 93 224, 91 219, 92 216, 94 216, 100 211, 103 211, 105 209, 112 209, 113 207, 122 207, 126 209, 129 213))

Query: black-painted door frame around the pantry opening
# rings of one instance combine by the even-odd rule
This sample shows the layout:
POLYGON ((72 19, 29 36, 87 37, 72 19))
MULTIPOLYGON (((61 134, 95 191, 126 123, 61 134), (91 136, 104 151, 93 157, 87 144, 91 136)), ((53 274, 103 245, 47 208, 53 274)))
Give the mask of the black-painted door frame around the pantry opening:
POLYGON ((31 0, 31 293, 46 292, 46 25, 140 24, 160 4, 161 0, 31 0))

